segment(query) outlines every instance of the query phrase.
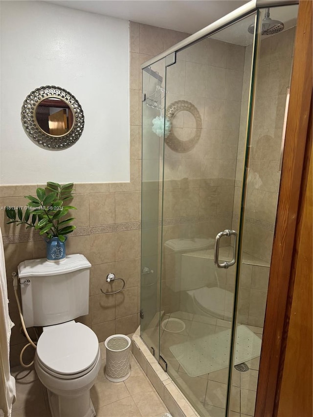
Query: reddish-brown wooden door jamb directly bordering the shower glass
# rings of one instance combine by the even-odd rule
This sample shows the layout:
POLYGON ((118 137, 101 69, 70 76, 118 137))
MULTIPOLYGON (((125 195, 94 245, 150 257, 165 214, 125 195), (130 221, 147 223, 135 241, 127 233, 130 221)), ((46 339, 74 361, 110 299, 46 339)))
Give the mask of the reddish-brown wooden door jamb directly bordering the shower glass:
POLYGON ((290 102, 269 273, 255 417, 276 415, 288 331, 288 294, 312 99, 312 1, 300 0, 290 102), (287 324, 287 326, 286 326, 287 324))

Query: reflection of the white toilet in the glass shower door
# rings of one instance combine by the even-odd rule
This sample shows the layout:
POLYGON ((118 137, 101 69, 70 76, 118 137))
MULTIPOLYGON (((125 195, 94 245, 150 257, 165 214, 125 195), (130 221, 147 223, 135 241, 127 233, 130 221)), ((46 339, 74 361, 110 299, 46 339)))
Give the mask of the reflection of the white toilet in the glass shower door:
POLYGON ((226 270, 214 265, 214 243, 199 238, 166 241, 165 282, 180 292, 181 311, 231 321, 234 294, 220 287, 226 270))

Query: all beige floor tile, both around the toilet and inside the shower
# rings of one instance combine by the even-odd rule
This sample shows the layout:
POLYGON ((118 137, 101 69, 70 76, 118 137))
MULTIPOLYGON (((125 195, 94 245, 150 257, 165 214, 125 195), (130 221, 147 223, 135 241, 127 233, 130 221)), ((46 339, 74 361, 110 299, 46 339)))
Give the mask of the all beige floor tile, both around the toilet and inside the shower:
MULTIPOLYGON (((216 323, 201 323, 199 317, 172 313, 172 317, 180 318, 185 323, 184 334, 163 331, 163 348, 167 351, 169 375, 174 379, 182 392, 198 402, 198 410, 203 416, 224 417, 224 401, 227 388, 227 369, 190 377, 179 365, 169 347, 187 340, 187 337, 199 337, 208 330, 218 332, 228 327, 227 322, 217 320, 216 323), (192 319, 192 320, 188 320, 192 319), (167 340, 165 340, 167 338, 167 340)), ((170 316, 164 316, 168 318, 170 316)), ((163 318, 163 319, 164 319, 163 318)), ((262 337, 262 329, 248 326, 258 337, 262 337)), ((130 354, 132 373, 123 382, 110 382, 104 375, 106 349, 100 343, 102 367, 98 378, 91 389, 91 398, 97 416, 106 417, 161 417, 167 411, 156 390, 143 372, 140 365, 130 354)), ((233 371, 232 402, 229 417, 247 417, 254 415, 254 403, 258 378, 259 358, 247 361, 248 372, 233 371)), ((50 417, 45 388, 38 379, 34 369, 29 371, 22 367, 12 369, 16 378, 17 400, 13 405, 13 417, 50 417)))

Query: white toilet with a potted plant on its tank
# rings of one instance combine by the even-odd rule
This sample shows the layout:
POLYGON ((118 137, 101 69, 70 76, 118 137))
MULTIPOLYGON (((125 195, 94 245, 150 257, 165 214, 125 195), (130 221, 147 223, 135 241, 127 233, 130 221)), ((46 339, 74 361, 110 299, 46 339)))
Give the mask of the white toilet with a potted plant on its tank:
POLYGON ((89 269, 81 254, 50 263, 19 264, 26 327, 42 326, 35 369, 48 393, 52 417, 93 417, 90 388, 101 367, 96 334, 75 318, 89 312, 89 269))

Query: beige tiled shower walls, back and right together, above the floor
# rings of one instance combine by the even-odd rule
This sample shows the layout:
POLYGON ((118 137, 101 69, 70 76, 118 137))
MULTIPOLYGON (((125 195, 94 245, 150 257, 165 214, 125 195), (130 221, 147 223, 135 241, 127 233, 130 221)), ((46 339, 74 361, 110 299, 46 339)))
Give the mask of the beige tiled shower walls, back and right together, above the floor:
MULTIPOLYGON (((239 320, 259 327, 263 326, 267 299, 294 32, 291 28, 262 39, 256 75, 239 320)), ((179 52, 177 63, 167 68, 166 107, 176 100, 192 102, 201 114, 203 131, 190 152, 177 153, 165 145, 163 243, 175 238, 214 238, 225 227, 231 227, 231 220, 237 228, 251 55, 252 45, 207 39, 179 52)), ((193 118, 178 113, 173 130, 184 140, 192 137, 193 118)), ((179 305, 179 293, 172 290, 175 285, 171 282, 178 258, 163 246, 161 303, 166 312, 179 305)), ((235 277, 231 275, 220 284, 233 292, 235 277)))

